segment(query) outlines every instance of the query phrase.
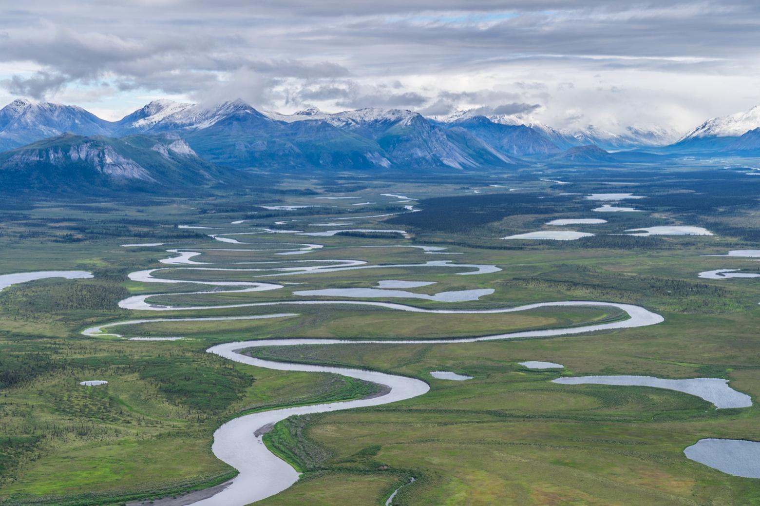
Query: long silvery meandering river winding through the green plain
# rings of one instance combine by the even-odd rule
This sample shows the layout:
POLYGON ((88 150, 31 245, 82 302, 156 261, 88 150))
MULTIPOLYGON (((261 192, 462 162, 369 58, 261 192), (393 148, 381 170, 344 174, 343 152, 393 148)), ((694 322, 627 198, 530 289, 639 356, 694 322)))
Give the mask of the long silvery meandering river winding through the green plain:
MULTIPOLYGON (((299 245, 301 246, 301 245, 299 245)), ((169 263, 179 263, 188 265, 195 263, 191 257, 198 256, 196 252, 185 252, 182 250, 169 251, 172 256, 169 257, 169 263), (179 256, 177 256, 179 254, 179 256)), ((163 263, 167 263, 164 261, 163 263)), ((168 269, 193 269, 209 270, 211 272, 220 272, 226 270, 251 270, 264 271, 260 275, 271 275, 266 271, 274 270, 276 275, 296 275, 302 273, 314 274, 318 272, 336 272, 349 269, 378 269, 383 267, 448 267, 458 268, 461 272, 458 275, 478 275, 490 272, 499 272, 496 266, 483 266, 479 264, 451 263, 450 261, 433 261, 421 264, 394 264, 394 265, 367 265, 358 260, 328 260, 326 262, 314 261, 303 263, 290 263, 287 267, 263 267, 261 269, 217 269, 213 267, 179 267, 168 269), (327 263, 327 265, 325 265, 327 263), (295 264, 295 265, 294 265, 295 264), (299 265, 302 264, 302 265, 299 265), (303 265, 309 264, 309 265, 303 265), (474 270, 473 270, 474 269, 474 270)), ((147 269, 143 271, 132 272, 129 278, 141 282, 160 282, 160 283, 177 283, 188 282, 174 278, 155 278, 154 272, 163 269, 147 269)), ((213 285, 219 287, 233 288, 233 291, 262 291, 283 288, 283 285, 264 282, 226 282, 226 281, 192 281, 201 285, 213 285)), ((187 294, 204 294, 209 291, 188 292, 187 294)), ((227 292, 229 293, 229 291, 227 292)), ((371 381, 384 387, 382 393, 377 396, 371 396, 365 399, 355 399, 335 403, 315 404, 312 406, 299 406, 285 409, 273 409, 271 411, 257 412, 250 415, 244 415, 226 422, 214 432, 214 444, 212 450, 220 460, 230 464, 239 471, 239 474, 230 482, 226 488, 223 488, 216 495, 203 498, 192 504, 194 506, 243 506, 263 498, 277 494, 290 487, 298 480, 299 473, 293 467, 280 460, 262 442, 263 434, 271 428, 272 425, 288 418, 291 415, 305 415, 309 413, 320 413, 339 411, 343 409, 353 409, 363 406, 379 406, 382 404, 395 403, 405 399, 412 399, 421 396, 429 390, 429 385, 423 380, 412 377, 404 377, 395 374, 385 374, 378 371, 367 371, 356 368, 335 368, 323 365, 297 364, 281 361, 267 361, 260 358, 252 358, 244 355, 242 350, 247 348, 259 348, 265 346, 295 346, 295 345, 356 345, 356 344, 386 344, 386 345, 404 345, 404 344, 448 344, 453 342, 480 342, 492 341, 497 339, 521 339, 537 338, 549 336, 565 336, 573 334, 583 334, 597 332, 600 330, 625 329, 638 326, 655 325, 663 321, 657 313, 644 309, 644 307, 632 304, 618 304, 612 302, 599 301, 559 301, 546 302, 538 304, 527 304, 520 307, 502 307, 488 310, 458 310, 458 309, 431 309, 427 307, 416 307, 406 304, 397 304, 381 301, 272 301, 272 302, 252 302, 244 304, 221 304, 217 306, 171 306, 149 304, 146 299, 155 297, 152 295, 138 295, 119 303, 120 307, 136 310, 202 310, 223 307, 258 307, 258 306, 306 306, 312 304, 324 305, 361 305, 369 307, 382 307, 391 310, 410 311, 415 313, 469 313, 469 314, 486 314, 486 313, 511 313, 526 310, 533 310, 540 307, 567 307, 567 306, 584 306, 584 307, 616 307, 629 315, 626 320, 617 320, 613 322, 598 323, 584 326, 575 326, 559 329, 527 330, 522 332, 502 333, 492 336, 478 336, 455 339, 392 339, 392 340, 369 340, 356 341, 349 339, 258 339, 252 341, 229 342, 222 345, 215 345, 207 349, 207 352, 219 355, 232 361, 242 364, 254 365, 256 367, 275 369, 278 371, 309 371, 309 372, 328 372, 341 374, 347 377, 357 378, 359 380, 371 381)), ((191 320, 245 320, 258 318, 277 318, 277 317, 296 317, 297 313, 272 313, 244 317, 194 317, 194 318, 154 318, 141 320, 125 320, 122 322, 106 323, 99 326, 93 326, 85 329, 83 333, 87 336, 106 335, 106 329, 109 329, 109 335, 119 336, 111 330, 113 327, 131 325, 135 323, 147 323, 152 321, 191 321, 191 320)), ((121 337, 121 336, 119 336, 121 337)))

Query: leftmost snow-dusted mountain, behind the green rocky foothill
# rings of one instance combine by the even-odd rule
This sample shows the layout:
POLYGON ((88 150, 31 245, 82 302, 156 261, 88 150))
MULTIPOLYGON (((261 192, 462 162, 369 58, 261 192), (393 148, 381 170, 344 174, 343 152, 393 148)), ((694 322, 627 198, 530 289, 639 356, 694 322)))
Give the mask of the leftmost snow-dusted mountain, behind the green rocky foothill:
POLYGON ((73 132, 108 135, 111 123, 81 107, 18 99, 0 109, 0 151, 73 132))

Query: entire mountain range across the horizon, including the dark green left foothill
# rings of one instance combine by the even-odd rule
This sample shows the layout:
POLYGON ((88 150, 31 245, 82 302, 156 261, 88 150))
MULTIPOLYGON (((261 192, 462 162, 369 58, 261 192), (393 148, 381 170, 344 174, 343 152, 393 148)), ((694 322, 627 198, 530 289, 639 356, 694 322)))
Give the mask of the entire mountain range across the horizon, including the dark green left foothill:
POLYGON ((0 110, 0 182, 7 183, 9 174, 21 183, 24 174, 49 181, 61 173, 97 173, 117 185, 223 184, 230 171, 217 167, 477 170, 657 159, 644 151, 755 156, 760 107, 709 119, 668 144, 675 139, 673 132, 635 127, 624 134, 593 126, 570 132, 477 110, 435 118, 374 108, 281 114, 242 100, 213 106, 154 100, 109 122, 81 107, 19 99, 0 110))

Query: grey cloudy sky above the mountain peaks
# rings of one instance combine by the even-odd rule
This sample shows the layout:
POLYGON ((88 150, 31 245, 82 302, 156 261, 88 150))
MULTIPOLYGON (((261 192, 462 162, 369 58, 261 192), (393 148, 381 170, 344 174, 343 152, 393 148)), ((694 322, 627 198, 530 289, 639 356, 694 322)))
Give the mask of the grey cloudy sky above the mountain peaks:
POLYGON ((159 97, 483 108, 682 132, 760 103, 758 56, 752 1, 24 0, 0 16, 0 101, 106 119, 159 97))

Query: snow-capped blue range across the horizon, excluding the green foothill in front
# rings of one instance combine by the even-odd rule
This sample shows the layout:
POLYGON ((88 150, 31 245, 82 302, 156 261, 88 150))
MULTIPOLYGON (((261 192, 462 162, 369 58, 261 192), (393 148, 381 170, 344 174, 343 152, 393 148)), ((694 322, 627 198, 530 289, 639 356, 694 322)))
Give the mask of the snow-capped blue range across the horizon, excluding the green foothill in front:
MULTIPOLYGON (((760 107, 711 119, 692 132, 689 142, 697 143, 675 145, 673 151, 727 149, 738 135, 703 135, 741 135, 755 123, 760 123, 760 107)), ((520 158, 548 159, 579 146, 635 151, 659 148, 673 139, 673 132, 666 129, 630 126, 617 133, 592 125, 555 129, 528 114, 483 116, 483 110, 436 118, 378 108, 325 113, 310 107, 282 114, 261 113, 242 100, 212 105, 154 100, 116 122, 97 118, 81 107, 29 100, 14 100, 0 110, 0 151, 62 132, 106 137, 173 135, 176 144, 161 145, 160 154, 197 153, 216 164, 281 170, 473 170, 525 163, 520 158)), ((733 151, 748 152, 738 146, 733 151)), ((571 154, 578 156, 575 151, 571 154)))

